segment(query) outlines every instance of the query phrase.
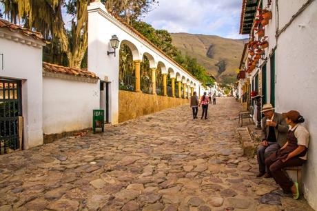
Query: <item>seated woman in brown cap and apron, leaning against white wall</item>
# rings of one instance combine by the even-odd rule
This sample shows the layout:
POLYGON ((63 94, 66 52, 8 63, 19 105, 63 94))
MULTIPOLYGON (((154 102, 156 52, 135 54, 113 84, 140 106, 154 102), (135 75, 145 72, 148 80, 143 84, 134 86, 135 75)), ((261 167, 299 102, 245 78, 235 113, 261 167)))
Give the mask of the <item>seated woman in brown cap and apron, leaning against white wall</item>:
POLYGON ((304 128, 305 119, 296 110, 283 113, 286 123, 290 125, 287 132, 287 142, 276 153, 265 159, 265 165, 272 174, 272 177, 280 185, 285 193, 293 194, 298 199, 298 183, 293 183, 287 177, 283 168, 289 166, 300 166, 307 160, 307 148, 309 143, 309 132, 304 128))

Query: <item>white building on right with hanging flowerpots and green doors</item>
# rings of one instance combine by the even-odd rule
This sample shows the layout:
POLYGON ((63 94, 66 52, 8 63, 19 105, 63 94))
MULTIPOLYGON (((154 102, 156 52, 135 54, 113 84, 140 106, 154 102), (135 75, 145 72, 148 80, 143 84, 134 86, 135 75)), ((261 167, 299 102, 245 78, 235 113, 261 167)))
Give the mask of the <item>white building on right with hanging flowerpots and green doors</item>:
POLYGON ((241 59, 238 92, 254 91, 277 112, 298 110, 311 134, 303 192, 317 209, 317 1, 243 0, 241 34, 249 43, 241 59))

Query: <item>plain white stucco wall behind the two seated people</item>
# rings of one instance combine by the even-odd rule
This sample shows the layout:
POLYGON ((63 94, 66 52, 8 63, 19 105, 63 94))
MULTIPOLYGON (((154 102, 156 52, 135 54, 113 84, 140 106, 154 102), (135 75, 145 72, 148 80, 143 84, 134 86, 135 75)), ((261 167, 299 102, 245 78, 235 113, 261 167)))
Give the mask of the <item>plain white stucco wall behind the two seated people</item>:
MULTIPOLYGON (((291 2, 297 4, 295 0, 279 2, 280 8, 291 2)), ((316 20, 317 2, 314 1, 280 35, 276 49, 276 107, 280 112, 298 110, 305 117, 304 125, 311 135, 303 182, 305 198, 314 209, 317 209, 316 20)))

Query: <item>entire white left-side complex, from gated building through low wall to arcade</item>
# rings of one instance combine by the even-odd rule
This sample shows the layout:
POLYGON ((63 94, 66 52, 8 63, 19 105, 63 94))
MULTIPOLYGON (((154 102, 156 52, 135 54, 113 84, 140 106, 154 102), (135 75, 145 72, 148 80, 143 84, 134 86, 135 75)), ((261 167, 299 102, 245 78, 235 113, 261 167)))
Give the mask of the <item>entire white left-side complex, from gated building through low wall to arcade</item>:
POLYGON ((94 72, 43 62, 46 42, 41 34, 0 19, 0 154, 90 129, 92 110, 104 110, 104 120, 116 124, 188 103, 194 91, 207 91, 99 1, 90 3, 88 13, 88 70, 94 72), (114 51, 110 46, 114 34, 119 46, 125 44, 132 51, 134 92, 119 90, 119 50, 116 56, 108 54, 114 51), (143 56, 153 72, 152 93, 148 94, 140 89, 143 56), (163 74, 163 96, 156 95, 156 69, 163 74), (167 77, 172 84, 169 96, 167 77))

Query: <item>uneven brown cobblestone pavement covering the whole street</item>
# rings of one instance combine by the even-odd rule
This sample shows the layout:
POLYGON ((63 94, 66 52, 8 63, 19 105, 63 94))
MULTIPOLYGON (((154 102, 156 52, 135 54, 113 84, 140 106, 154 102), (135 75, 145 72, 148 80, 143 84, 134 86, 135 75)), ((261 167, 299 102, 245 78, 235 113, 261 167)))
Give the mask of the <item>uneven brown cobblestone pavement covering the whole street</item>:
POLYGON ((181 106, 3 155, 0 210, 311 210, 256 179, 239 108, 217 99, 207 120, 193 120, 181 106))

